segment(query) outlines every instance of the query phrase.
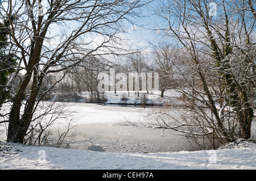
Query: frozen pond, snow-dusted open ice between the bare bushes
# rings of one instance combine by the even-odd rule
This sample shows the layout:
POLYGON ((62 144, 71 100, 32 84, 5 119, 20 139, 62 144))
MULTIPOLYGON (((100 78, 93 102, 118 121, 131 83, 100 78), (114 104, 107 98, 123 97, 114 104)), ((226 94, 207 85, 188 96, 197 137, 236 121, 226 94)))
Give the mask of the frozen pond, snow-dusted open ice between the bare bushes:
POLYGON ((72 104, 68 110, 76 111, 79 117, 72 148, 145 153, 199 150, 183 133, 146 127, 142 115, 150 113, 151 108, 72 104))

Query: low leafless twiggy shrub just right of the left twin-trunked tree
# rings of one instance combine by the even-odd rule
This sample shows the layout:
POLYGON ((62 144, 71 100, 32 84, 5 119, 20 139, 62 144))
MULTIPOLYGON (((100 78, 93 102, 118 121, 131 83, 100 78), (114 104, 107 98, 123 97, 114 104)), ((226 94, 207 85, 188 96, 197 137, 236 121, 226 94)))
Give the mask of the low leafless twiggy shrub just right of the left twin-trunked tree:
POLYGON ((65 113, 69 107, 68 103, 40 102, 33 113, 24 144, 69 148, 76 127, 74 114, 65 113))

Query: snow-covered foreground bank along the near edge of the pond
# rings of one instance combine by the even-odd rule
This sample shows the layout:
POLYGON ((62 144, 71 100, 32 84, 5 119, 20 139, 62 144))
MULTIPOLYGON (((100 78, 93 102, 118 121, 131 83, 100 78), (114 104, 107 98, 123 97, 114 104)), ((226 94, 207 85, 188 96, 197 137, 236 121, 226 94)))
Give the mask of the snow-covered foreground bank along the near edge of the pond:
POLYGON ((0 169, 10 170, 256 169, 256 144, 245 141, 220 150, 174 153, 110 153, 1 142, 0 145, 0 169))

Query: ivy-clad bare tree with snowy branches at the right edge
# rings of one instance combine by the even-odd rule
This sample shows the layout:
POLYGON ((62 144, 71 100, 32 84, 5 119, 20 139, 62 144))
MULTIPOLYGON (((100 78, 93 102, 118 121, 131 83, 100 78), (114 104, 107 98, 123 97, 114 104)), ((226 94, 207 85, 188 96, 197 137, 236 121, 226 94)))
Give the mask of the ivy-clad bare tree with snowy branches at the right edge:
POLYGON ((215 148, 214 140, 222 143, 250 138, 254 117, 251 95, 255 95, 255 19, 253 8, 245 1, 216 1, 213 11, 217 15, 209 5, 206 0, 166 1, 157 13, 166 21, 166 27, 158 29, 179 42, 185 51, 181 58, 187 60, 184 66, 192 70, 185 74, 182 66, 175 64, 183 77, 178 90, 193 105, 188 111, 195 113, 191 113, 195 121, 180 126, 192 128, 193 124, 204 135, 210 133, 215 148), (193 80, 200 86, 191 84, 193 80))

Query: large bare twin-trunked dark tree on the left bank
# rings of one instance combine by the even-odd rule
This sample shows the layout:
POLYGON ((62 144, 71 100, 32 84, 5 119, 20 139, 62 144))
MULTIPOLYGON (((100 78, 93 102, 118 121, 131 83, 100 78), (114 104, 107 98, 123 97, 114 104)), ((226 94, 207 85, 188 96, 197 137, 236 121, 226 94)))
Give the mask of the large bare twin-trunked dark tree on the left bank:
POLYGON ((65 75, 73 66, 96 54, 122 51, 117 47, 118 33, 123 32, 123 23, 131 22, 131 16, 139 16, 143 5, 139 0, 2 3, 1 14, 9 19, 14 17, 14 21, 10 23, 10 31, 2 23, 0 27, 9 34, 11 48, 22 60, 16 72, 25 72, 10 111, 8 142, 24 141, 32 113, 38 107, 36 102, 40 101, 37 98, 44 78, 58 72, 65 75), (23 102, 26 91, 29 95, 23 102))

